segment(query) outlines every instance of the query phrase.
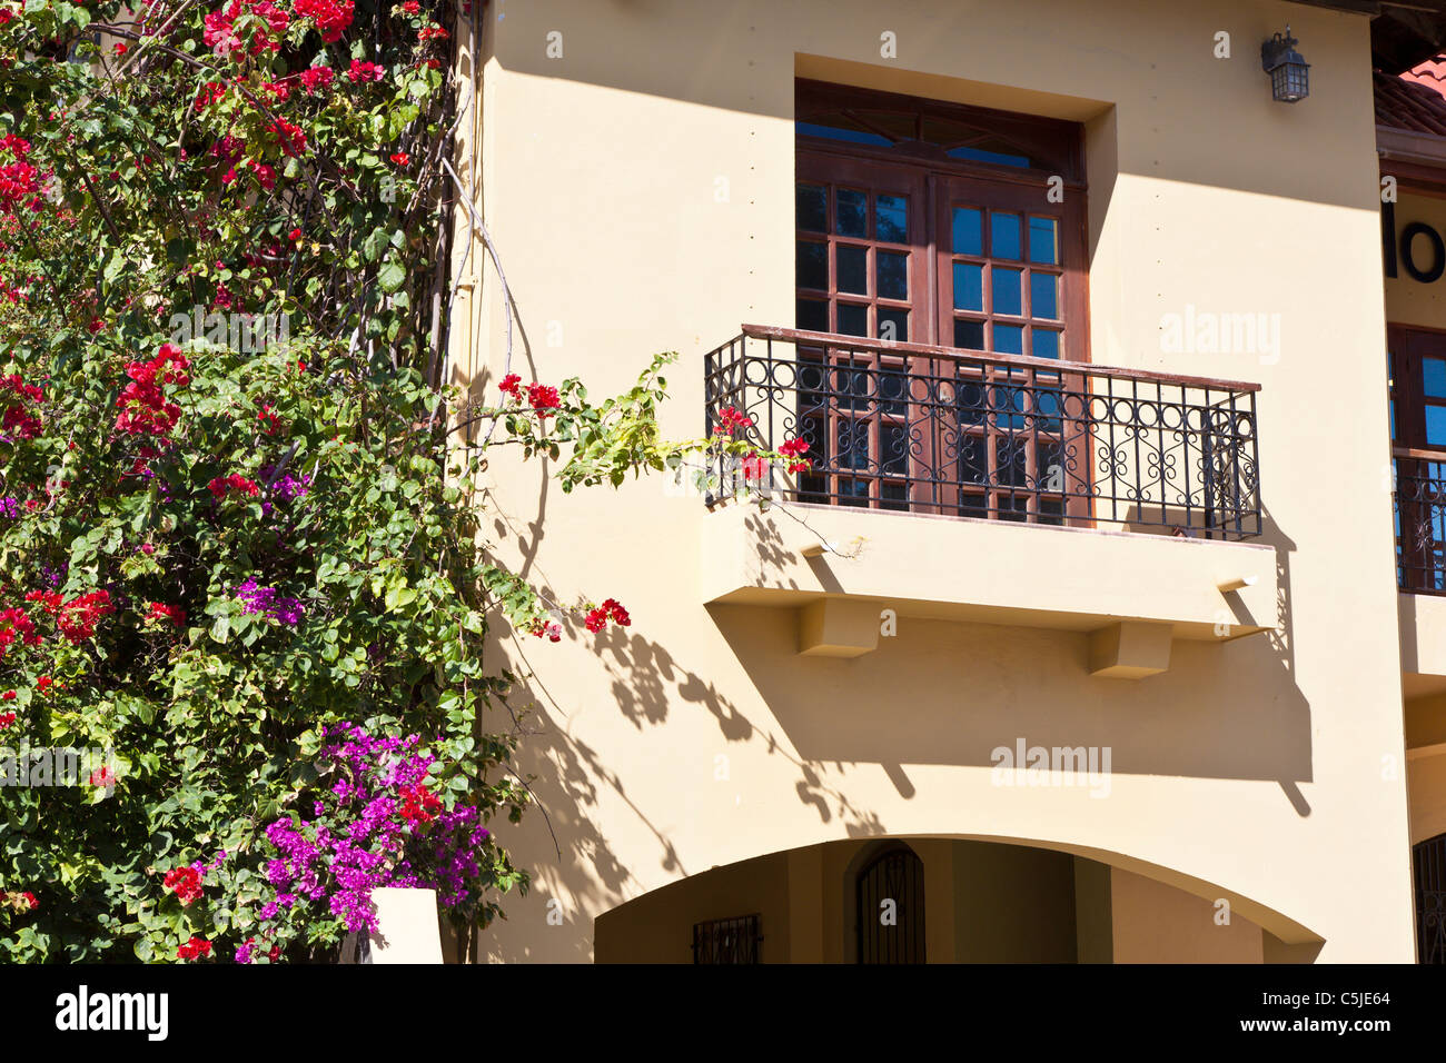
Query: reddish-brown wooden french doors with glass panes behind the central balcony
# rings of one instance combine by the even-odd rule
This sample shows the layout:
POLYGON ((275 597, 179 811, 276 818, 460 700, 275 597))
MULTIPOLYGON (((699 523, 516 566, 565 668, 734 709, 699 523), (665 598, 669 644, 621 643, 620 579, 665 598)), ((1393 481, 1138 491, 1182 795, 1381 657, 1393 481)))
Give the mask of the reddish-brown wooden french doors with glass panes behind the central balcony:
MULTIPOLYGON (((1083 194, 798 150, 795 327, 1087 360, 1083 194)), ((1009 521, 1089 516, 1084 377, 1030 362, 798 351, 803 500, 1009 521)))

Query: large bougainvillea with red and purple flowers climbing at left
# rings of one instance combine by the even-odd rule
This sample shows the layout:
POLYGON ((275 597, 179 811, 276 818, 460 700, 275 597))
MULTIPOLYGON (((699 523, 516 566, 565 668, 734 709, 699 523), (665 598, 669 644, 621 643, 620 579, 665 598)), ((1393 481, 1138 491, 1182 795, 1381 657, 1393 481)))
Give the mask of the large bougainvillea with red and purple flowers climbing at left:
POLYGON ((480 7, 0 0, 0 956, 324 957, 379 885, 486 927, 528 797, 489 625, 633 623, 486 552, 487 447, 805 464, 737 411, 661 441, 665 356, 440 386, 480 7), (26 745, 106 759, 20 785, 26 745))

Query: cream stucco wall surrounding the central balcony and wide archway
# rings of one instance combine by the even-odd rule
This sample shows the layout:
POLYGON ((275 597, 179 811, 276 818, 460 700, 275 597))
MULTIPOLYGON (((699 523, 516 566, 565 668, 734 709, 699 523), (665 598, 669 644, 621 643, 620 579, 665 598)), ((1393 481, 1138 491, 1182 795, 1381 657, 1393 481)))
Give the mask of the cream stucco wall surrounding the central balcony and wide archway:
MULTIPOLYGON (((681 351, 664 424, 701 431, 701 356, 740 321, 791 324, 795 72, 1087 123, 1096 362, 1259 382, 1268 632, 1177 642, 1170 670, 1093 678, 1077 631, 914 619, 857 659, 798 658, 794 619, 706 606, 711 519, 658 482, 562 496, 495 456, 499 557, 632 628, 499 636, 529 675, 541 814, 499 837, 535 875, 483 955, 593 955, 594 920, 684 876, 840 839, 1015 839, 1113 863, 1322 960, 1413 959, 1365 19, 1277 3, 931 0, 486 9, 477 201, 521 309, 512 369, 630 383, 681 351), (1274 104, 1258 43, 1291 22, 1312 97, 1274 104), (879 56, 894 32, 898 58, 879 56), (1212 55, 1232 33, 1232 59, 1212 55), (561 58, 548 35, 561 33, 561 58), (1281 349, 1170 354, 1187 307, 1278 314, 1281 349), (1343 425, 1349 424, 1349 432, 1343 425), (1001 787, 991 751, 1108 746, 1108 795, 1001 787), (551 904, 549 904, 551 902, 551 904), (561 926, 549 921, 561 913, 561 926)), ((469 179, 473 175, 467 168, 469 179)), ((458 379, 495 386, 503 318, 474 253, 458 379)), ((888 519, 873 518, 873 519, 888 519)), ((1030 529, 988 560, 1028 580, 1030 529), (1024 544, 1028 539, 1028 548, 1024 544)), ((1070 532, 1058 532, 1067 535, 1070 532)), ((839 561, 842 564, 842 561, 839 561)), ((1128 558, 1100 573, 1125 586, 1128 558)), ((953 593, 953 592, 951 592, 953 593)))

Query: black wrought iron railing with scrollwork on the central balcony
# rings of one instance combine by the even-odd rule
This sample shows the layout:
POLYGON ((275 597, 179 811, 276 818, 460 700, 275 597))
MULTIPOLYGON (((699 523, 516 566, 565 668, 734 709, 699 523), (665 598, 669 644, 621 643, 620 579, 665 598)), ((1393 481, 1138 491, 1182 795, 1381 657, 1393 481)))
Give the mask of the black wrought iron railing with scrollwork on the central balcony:
MULTIPOLYGON (((706 356, 707 424, 808 444, 797 502, 1031 524, 1261 531, 1254 383, 743 325, 706 356)), ((720 467, 717 495, 739 483, 720 467)))

